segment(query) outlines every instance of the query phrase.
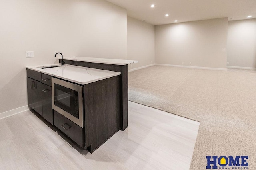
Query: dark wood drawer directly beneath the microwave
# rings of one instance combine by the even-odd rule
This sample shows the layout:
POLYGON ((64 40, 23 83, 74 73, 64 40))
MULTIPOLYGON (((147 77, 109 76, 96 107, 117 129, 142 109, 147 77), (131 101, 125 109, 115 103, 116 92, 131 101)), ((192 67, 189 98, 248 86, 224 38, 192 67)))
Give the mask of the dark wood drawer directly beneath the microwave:
POLYGON ((80 147, 84 147, 84 129, 54 110, 54 125, 80 147))

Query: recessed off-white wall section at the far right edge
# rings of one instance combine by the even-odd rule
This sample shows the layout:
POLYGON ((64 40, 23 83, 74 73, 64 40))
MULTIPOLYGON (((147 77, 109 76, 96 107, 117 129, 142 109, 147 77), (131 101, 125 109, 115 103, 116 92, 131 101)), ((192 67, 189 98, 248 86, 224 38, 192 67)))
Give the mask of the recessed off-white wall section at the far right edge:
POLYGON ((228 21, 228 66, 256 68, 256 18, 228 21))

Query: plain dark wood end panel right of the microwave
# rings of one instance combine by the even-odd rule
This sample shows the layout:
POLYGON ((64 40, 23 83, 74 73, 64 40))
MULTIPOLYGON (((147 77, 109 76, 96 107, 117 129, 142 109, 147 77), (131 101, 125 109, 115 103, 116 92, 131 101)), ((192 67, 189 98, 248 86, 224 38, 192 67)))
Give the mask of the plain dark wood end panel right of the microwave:
POLYGON ((120 76, 86 84, 85 148, 91 153, 120 129, 120 76))

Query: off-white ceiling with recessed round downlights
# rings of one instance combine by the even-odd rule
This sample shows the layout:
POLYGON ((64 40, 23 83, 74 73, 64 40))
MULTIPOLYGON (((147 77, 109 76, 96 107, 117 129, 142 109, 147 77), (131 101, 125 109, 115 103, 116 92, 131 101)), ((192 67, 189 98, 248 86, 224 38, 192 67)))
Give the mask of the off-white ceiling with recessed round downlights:
POLYGON ((127 15, 152 25, 228 17, 256 18, 256 0, 107 0, 127 9, 127 15), (150 5, 155 4, 154 8, 150 5), (168 17, 165 14, 169 14, 168 17))

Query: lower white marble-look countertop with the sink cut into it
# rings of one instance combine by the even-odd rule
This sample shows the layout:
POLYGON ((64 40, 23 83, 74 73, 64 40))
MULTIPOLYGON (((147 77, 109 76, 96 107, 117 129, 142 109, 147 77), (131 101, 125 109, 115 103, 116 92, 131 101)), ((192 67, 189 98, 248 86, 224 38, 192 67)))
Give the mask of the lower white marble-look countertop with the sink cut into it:
POLYGON ((26 68, 82 85, 118 76, 121 74, 120 72, 100 70, 68 64, 65 64, 64 66, 61 66, 61 64, 46 64, 40 66, 26 66, 26 68), (44 69, 38 68, 46 66, 58 67, 44 69))

